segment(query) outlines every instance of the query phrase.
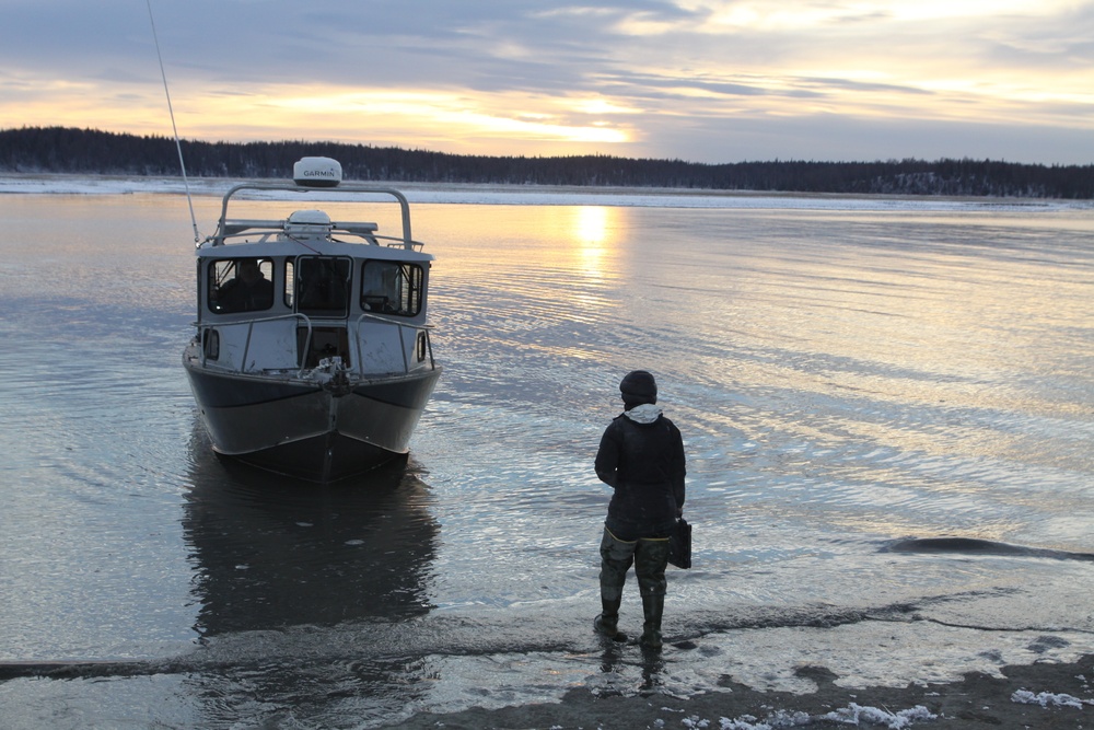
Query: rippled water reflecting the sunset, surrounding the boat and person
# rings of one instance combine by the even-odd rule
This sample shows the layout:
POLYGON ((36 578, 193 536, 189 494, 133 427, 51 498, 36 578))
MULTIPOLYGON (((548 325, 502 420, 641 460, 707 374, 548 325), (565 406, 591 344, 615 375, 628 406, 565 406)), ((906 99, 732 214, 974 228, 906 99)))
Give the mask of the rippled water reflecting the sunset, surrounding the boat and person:
POLYGON ((1094 210, 688 200, 417 206, 444 376, 405 471, 317 488, 210 452, 182 198, 0 196, 0 725, 368 728, 1094 651, 1094 210), (696 540, 652 662, 591 630, 635 368, 696 540))

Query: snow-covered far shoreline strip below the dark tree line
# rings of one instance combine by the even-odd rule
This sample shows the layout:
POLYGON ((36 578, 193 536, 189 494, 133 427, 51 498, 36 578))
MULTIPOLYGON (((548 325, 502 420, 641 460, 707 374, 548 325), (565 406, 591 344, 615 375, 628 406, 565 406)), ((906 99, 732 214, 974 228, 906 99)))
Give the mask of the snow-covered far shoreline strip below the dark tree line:
MULTIPOLYGON (((0 173, 0 195, 185 195, 222 196, 240 181, 226 177, 135 177, 0 173)), ((1094 201, 1044 198, 945 198, 887 195, 754 193, 683 188, 624 188, 472 183, 384 183, 417 204, 612 206, 833 211, 1051 212, 1094 210, 1094 201)), ((337 199, 337 193, 330 194, 337 199)))

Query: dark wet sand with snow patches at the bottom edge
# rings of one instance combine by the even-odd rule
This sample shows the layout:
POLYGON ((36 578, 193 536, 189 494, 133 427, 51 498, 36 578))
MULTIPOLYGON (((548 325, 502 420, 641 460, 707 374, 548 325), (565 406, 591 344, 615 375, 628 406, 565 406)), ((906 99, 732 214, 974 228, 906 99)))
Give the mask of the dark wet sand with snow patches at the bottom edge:
POLYGON ((437 729, 709 728, 1094 728, 1094 656, 1074 663, 1005 667, 1003 676, 967 674, 951 684, 845 688, 823 667, 799 674, 811 694, 757 692, 726 682, 718 693, 677 698, 651 690, 635 696, 595 696, 574 688, 558 704, 461 712, 426 712, 387 727, 437 729))

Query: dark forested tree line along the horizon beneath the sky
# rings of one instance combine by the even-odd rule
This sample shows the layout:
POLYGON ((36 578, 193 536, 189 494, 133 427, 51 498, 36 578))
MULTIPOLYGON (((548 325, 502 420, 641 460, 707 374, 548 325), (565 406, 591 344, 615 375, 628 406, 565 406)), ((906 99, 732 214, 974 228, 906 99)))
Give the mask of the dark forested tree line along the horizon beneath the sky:
MULTIPOLYGON (((195 177, 284 178, 306 155, 341 162, 347 179, 509 185, 673 187, 698 190, 1094 198, 1094 165, 991 160, 736 162, 702 164, 604 154, 485 157, 338 142, 184 140, 195 177)), ((67 127, 0 130, 0 171, 178 175, 167 137, 67 127)))

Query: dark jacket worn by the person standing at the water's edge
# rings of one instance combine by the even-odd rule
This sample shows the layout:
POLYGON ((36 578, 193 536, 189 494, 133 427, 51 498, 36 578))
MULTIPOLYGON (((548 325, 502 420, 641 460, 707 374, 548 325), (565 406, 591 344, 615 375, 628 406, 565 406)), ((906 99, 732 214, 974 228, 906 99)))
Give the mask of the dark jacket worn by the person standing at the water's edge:
POLYGON ((605 525, 619 540, 667 536, 684 507, 684 439, 653 405, 617 416, 601 437, 596 476, 615 489, 605 525), (640 422, 649 421, 649 422, 640 422))

